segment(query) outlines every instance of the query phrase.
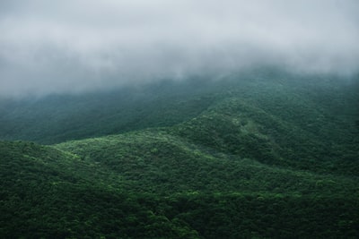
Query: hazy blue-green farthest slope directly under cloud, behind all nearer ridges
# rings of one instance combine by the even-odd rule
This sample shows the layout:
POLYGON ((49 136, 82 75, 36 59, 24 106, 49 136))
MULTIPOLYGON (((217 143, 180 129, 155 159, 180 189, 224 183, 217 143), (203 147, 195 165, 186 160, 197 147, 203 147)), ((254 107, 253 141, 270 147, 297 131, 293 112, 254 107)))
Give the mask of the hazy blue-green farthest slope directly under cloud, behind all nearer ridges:
MULTIPOLYGON (((243 101, 312 134, 337 129, 352 134, 358 130, 358 81, 355 77, 257 70, 220 79, 192 77, 79 95, 0 98, 0 139, 51 144, 171 126, 225 98, 243 101)), ((333 135, 330 140, 343 136, 333 135)))

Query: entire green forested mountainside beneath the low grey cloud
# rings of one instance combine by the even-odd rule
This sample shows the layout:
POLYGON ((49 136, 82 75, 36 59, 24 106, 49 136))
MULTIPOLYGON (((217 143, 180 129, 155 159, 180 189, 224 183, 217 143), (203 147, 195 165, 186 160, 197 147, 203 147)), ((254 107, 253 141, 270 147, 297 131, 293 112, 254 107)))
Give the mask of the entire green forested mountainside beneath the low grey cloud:
POLYGON ((0 99, 1 238, 358 238, 359 78, 255 69, 0 99))

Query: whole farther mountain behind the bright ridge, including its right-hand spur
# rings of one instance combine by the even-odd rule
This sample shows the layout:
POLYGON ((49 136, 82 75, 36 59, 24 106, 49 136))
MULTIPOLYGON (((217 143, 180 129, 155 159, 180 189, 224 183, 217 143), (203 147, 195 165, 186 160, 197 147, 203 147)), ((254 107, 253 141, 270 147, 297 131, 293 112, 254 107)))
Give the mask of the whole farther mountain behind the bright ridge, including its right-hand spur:
POLYGON ((164 127, 201 147, 268 165, 357 175, 358 81, 266 69, 3 100, 0 139, 51 144, 164 127))

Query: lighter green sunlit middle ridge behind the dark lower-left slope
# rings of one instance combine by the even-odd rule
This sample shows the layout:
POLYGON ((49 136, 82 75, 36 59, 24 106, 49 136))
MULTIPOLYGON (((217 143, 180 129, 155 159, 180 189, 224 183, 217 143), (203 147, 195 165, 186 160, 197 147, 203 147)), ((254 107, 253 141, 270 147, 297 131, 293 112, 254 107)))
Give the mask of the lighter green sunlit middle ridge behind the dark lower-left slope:
POLYGON ((332 191, 345 194, 341 177, 266 166, 253 159, 191 144, 162 130, 69 141, 57 148, 122 175, 124 180, 136 184, 130 187, 137 192, 164 195, 196 191, 306 194, 321 182, 320 188, 328 187, 328 194, 332 191), (338 183, 333 182, 334 178, 338 183), (282 184, 283 181, 288 184, 282 184), (301 182, 300 188, 295 187, 296 182, 301 182))

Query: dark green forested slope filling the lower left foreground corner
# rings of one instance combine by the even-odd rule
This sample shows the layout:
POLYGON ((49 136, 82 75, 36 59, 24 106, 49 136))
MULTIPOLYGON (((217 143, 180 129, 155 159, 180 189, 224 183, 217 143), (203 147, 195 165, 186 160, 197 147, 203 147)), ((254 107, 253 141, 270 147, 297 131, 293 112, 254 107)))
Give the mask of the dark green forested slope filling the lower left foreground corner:
POLYGON ((28 142, 0 142, 0 149, 2 238, 197 235, 154 215, 138 201, 146 195, 123 192, 118 175, 70 153, 28 142))

